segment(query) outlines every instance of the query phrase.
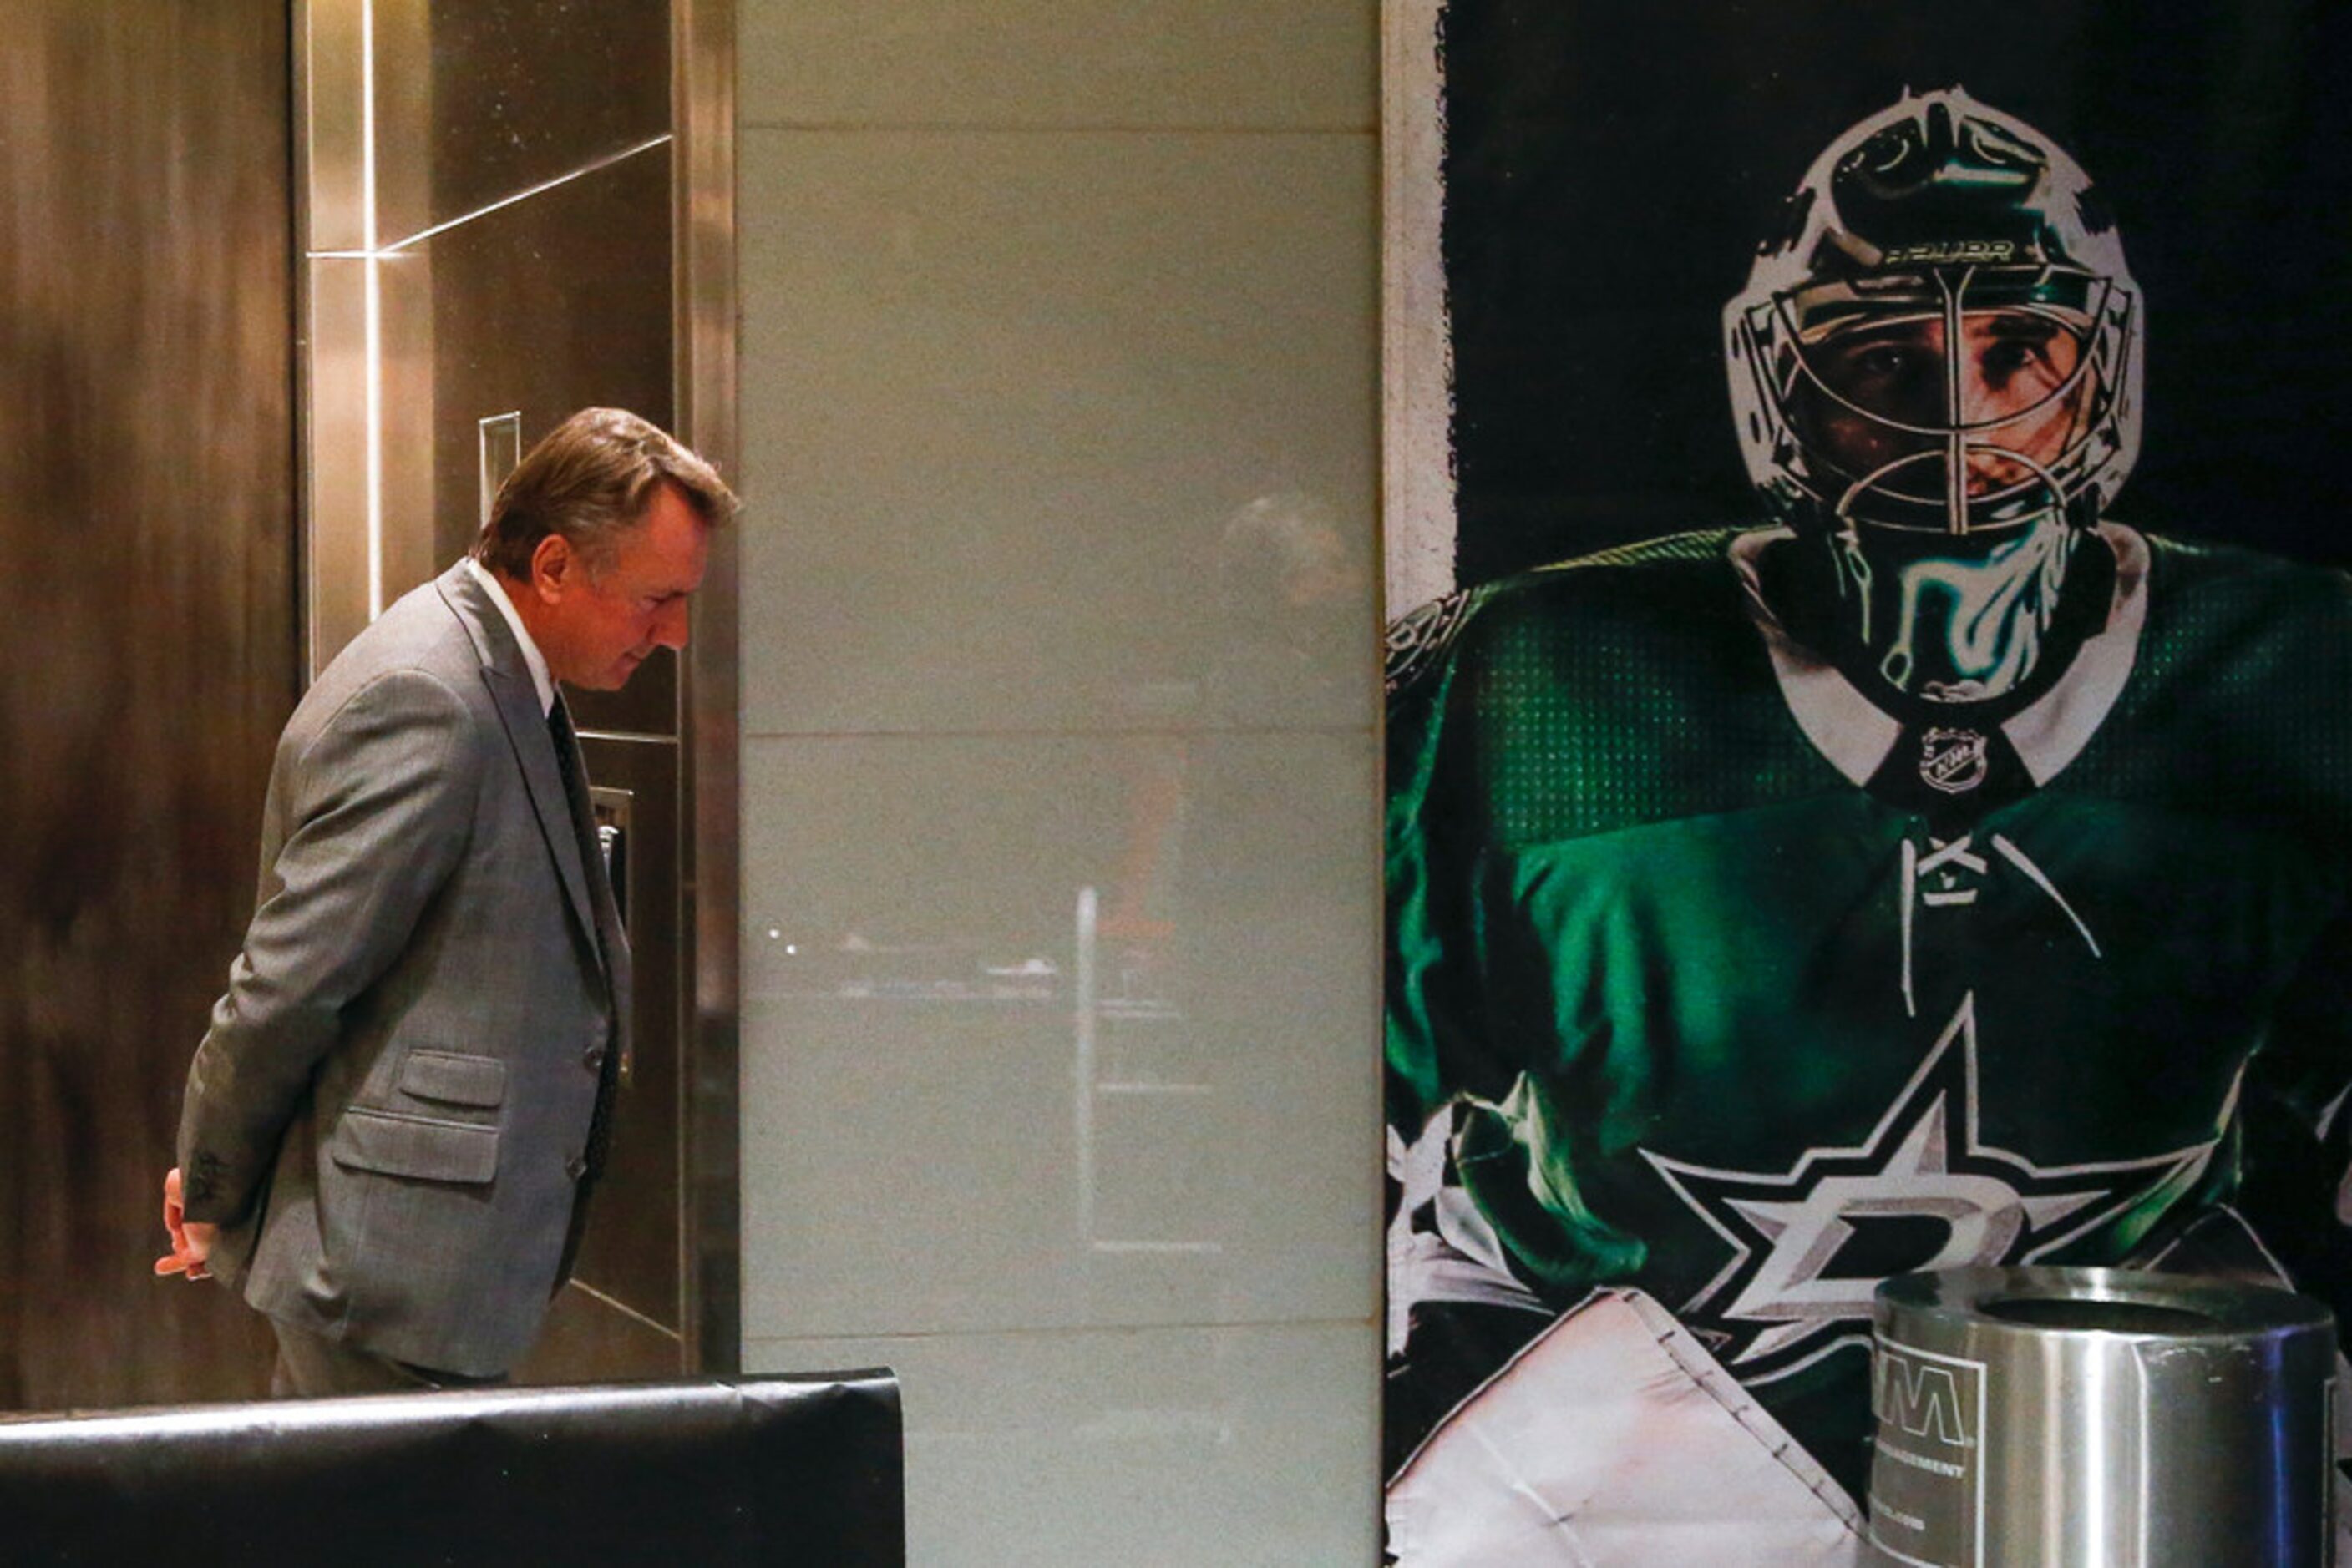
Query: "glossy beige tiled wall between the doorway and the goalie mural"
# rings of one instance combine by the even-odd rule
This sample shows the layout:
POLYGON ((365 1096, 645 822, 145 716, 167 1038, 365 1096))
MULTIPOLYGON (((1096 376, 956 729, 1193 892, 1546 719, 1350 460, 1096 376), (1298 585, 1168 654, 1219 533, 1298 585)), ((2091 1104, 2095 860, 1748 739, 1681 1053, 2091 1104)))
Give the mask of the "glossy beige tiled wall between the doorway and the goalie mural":
POLYGON ((743 0, 743 1338, 917 1563, 1369 1563, 1371 0, 743 0))

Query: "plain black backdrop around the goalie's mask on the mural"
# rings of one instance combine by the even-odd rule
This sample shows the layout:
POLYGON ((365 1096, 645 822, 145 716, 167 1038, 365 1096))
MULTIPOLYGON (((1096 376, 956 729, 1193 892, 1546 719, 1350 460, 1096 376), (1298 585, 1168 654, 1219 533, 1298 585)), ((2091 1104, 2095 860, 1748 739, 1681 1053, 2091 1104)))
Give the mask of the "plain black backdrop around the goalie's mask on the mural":
POLYGON ((1454 0, 1463 583, 1755 515, 1719 317, 1813 155, 1962 85, 2110 197, 2147 301, 2114 515, 2352 562, 2352 7, 1454 0))

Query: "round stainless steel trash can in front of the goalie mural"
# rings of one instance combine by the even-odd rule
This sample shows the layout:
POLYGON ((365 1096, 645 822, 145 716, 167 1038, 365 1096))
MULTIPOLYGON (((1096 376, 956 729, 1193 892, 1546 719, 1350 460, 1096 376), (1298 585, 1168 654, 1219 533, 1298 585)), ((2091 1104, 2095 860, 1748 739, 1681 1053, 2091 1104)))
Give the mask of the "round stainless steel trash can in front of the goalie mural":
POLYGON ((2331 1563, 2336 1321, 2133 1269, 1879 1286, 1870 1544, 1919 1568, 2331 1563))

